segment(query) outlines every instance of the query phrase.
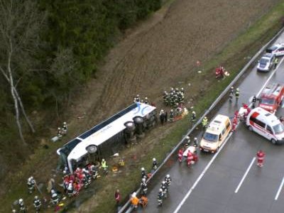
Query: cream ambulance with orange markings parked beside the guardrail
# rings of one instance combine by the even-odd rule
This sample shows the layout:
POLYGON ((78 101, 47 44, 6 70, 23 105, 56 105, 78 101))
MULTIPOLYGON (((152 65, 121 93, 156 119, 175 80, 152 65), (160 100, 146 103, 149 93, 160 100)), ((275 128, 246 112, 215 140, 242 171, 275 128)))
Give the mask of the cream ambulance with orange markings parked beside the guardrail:
POLYGON ((218 114, 207 127, 200 141, 200 150, 215 153, 231 131, 231 121, 228 116, 218 114))

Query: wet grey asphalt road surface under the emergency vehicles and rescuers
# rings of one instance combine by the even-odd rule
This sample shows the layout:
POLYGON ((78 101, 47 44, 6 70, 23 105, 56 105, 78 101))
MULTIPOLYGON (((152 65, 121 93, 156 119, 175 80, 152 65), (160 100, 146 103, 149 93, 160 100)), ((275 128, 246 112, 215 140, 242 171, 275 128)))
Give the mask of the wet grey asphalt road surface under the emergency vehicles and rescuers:
MULTIPOLYGON (((284 42, 283 34, 275 43, 280 42, 284 42)), ((253 94, 258 94, 272 72, 256 72, 254 67, 239 84, 239 102, 224 102, 218 106, 217 114, 232 117, 241 103, 248 103, 253 94)), ((284 62, 278 65, 269 82, 284 84, 284 62)), ((276 115, 284 115, 284 109, 280 107, 276 115)), ((138 212, 283 212, 284 189, 280 188, 284 177, 283 153, 284 146, 275 146, 240 124, 216 157, 199 153, 197 164, 187 168, 185 162, 178 163, 177 156, 173 156, 168 166, 149 183, 148 207, 138 212), (256 160, 253 161, 260 149, 266 153, 263 168, 258 168, 256 160), (166 174, 172 178, 169 197, 162 207, 157 207, 160 182, 166 174)))

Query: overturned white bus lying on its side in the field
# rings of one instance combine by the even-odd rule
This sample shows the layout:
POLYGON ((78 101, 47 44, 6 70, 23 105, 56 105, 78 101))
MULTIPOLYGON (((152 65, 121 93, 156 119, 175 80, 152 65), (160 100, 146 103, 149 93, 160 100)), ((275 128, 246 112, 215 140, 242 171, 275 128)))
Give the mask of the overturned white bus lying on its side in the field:
POLYGON ((57 153, 61 165, 67 166, 73 173, 89 158, 100 161, 114 155, 127 143, 136 141, 136 137, 143 137, 143 132, 155 126, 156 122, 155 107, 143 103, 131 104, 59 148, 57 153))

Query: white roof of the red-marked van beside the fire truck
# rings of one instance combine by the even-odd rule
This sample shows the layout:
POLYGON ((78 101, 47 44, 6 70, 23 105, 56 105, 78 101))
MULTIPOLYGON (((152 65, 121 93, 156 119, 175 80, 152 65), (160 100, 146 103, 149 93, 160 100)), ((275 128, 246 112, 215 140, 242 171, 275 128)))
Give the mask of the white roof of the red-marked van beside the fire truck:
POLYGON ((266 111, 261 107, 252 109, 249 117, 257 118, 259 121, 262 121, 269 126, 275 126, 280 123, 279 119, 274 114, 271 114, 269 111, 266 111))

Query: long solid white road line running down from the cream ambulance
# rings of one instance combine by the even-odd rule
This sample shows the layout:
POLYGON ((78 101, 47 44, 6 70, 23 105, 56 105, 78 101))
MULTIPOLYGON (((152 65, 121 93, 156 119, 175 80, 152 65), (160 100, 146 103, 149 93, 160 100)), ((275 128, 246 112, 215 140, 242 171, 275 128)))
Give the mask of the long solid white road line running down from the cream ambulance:
POLYGON ((217 153, 214 154, 213 158, 209 161, 209 163, 207 164, 207 166, 204 168, 204 170, 202 171, 202 173, 200 174, 200 176, 197 178, 197 180, 195 180, 195 183, 192 185, 192 187, 190 188, 190 190, 188 190, 187 194, 185 195, 185 197, 183 197, 182 201, 180 202, 180 204, 178 204, 178 207, 175 209, 175 212, 173 213, 177 213, 180 208, 182 207, 182 205, 185 203, 185 200, 187 200, 187 197, 190 196, 191 192, 195 189, 195 187, 197 186, 198 182, 200 182, 201 178, 205 175, 205 173, 207 172, 207 170, 209 169, 210 165, 212 165, 213 161, 215 160, 215 158, 217 158, 217 156, 219 155, 219 153, 222 151, 222 148, 226 145, 226 142, 229 141, 229 138, 231 138, 232 133, 229 134, 228 138, 226 138, 226 141, 224 141, 224 143, 222 144, 222 146, 219 148, 219 151, 217 153))

